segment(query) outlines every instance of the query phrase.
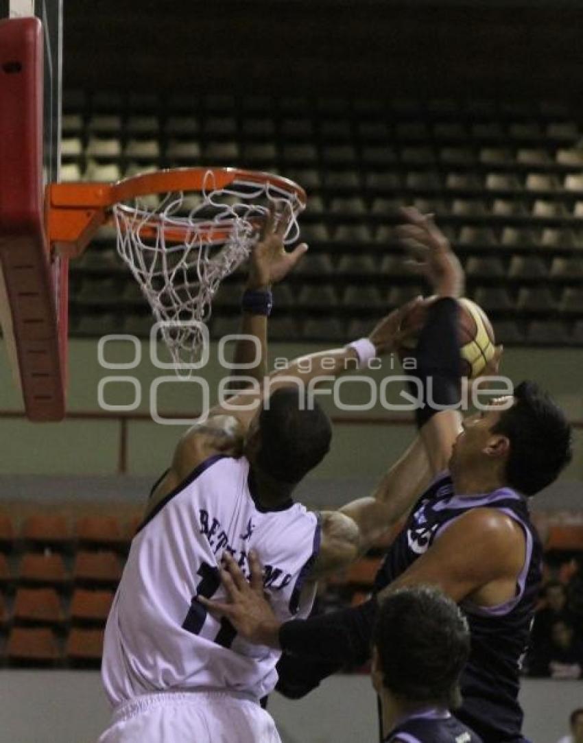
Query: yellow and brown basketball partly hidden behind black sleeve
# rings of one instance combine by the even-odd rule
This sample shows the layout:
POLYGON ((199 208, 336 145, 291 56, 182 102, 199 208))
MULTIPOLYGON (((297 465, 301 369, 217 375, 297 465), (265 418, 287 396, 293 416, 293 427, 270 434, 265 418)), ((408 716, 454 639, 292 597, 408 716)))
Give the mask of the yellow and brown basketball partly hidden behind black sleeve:
MULTIPOLYGON (((437 297, 430 297, 420 305, 413 308, 403 319, 401 328, 406 330, 411 326, 423 325, 423 315, 426 314, 428 306, 437 297)), ((458 334, 460 337, 460 356, 462 359, 462 374, 468 379, 475 379, 483 373, 486 365, 495 354, 495 339, 492 323, 489 321, 483 309, 472 302, 471 299, 463 297, 457 300, 460 305, 458 334)), ((407 351, 417 345, 415 338, 403 343, 400 349, 400 357, 405 357, 407 351)))

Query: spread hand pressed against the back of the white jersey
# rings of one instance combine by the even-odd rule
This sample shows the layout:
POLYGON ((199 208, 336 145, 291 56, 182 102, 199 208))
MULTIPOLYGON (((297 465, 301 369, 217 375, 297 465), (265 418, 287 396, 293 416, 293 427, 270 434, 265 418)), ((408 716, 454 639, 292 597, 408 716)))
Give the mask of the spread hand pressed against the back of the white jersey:
POLYGON ((238 634, 251 643, 279 647, 280 623, 264 596, 263 570, 255 552, 249 553, 249 581, 228 552, 224 554, 222 562, 224 568, 219 568, 219 573, 229 603, 211 601, 203 596, 197 600, 213 616, 227 617, 238 634))

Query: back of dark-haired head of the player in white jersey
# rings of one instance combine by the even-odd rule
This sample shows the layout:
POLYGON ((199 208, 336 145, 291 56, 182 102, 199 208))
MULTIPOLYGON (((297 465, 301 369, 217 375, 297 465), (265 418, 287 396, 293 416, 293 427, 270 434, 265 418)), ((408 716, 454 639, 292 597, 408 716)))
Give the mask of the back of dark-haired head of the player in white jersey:
POLYGON ((245 454, 273 479, 299 482, 330 450, 330 418, 296 386, 277 389, 250 425, 245 454))

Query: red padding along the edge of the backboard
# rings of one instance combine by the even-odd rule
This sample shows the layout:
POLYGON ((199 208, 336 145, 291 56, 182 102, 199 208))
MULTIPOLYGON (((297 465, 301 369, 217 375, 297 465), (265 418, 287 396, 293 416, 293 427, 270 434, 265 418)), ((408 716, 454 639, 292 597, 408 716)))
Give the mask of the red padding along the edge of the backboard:
POLYGON ((0 21, 0 263, 28 418, 58 421, 65 415, 59 315, 66 325, 67 273, 51 262, 45 236, 42 96, 41 22, 0 21))

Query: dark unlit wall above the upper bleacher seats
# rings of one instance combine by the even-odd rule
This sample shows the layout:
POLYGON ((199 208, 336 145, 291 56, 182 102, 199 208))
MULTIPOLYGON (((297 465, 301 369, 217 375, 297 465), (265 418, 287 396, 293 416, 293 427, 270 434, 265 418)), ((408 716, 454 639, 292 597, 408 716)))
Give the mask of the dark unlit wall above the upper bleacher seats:
POLYGON ((579 103, 582 30, 560 0, 67 0, 65 88, 579 103))

